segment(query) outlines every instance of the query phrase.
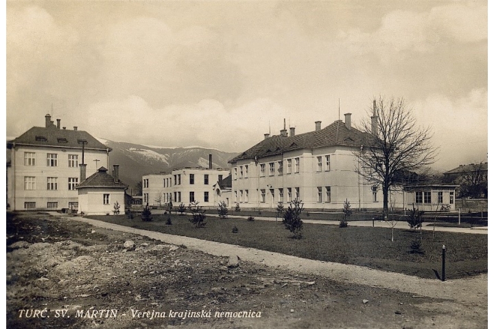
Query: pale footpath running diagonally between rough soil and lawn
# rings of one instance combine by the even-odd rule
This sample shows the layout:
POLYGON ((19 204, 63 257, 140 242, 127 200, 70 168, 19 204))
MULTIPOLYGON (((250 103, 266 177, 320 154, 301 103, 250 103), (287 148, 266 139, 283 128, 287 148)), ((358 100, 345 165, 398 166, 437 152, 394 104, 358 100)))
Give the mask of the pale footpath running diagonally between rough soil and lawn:
MULTIPOLYGON (((49 214, 52 216, 65 217, 57 212, 50 212, 49 214)), ((416 295, 416 297, 424 296, 451 299, 467 305, 471 305, 472 303, 487 303, 487 274, 467 279, 446 280, 445 282, 441 282, 440 280, 423 279, 401 273, 368 269, 364 266, 309 260, 271 251, 228 245, 225 243, 200 240, 185 236, 163 234, 144 229, 135 229, 79 216, 67 216, 67 219, 78 220, 104 229, 112 229, 129 234, 139 234, 172 245, 185 245, 189 249, 209 253, 213 256, 238 256, 241 262, 248 261, 283 270, 296 271, 298 273, 320 275, 322 277, 328 277, 336 282, 390 288, 405 293, 412 293, 414 296, 416 295)), ((276 218, 274 218, 274 220, 275 219, 276 218)), ((266 220, 271 219, 266 218, 266 220)), ((320 222, 319 220, 315 221, 320 222)))

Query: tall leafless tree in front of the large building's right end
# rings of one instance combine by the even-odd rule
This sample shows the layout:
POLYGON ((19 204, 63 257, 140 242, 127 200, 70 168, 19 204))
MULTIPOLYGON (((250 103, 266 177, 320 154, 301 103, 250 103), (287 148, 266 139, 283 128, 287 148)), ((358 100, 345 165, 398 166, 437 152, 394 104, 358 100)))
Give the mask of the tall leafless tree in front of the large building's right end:
POLYGON ((371 122, 362 124, 370 134, 356 152, 359 174, 383 191, 383 211, 388 218, 388 196, 393 186, 403 182, 403 173, 434 163, 437 148, 431 144, 432 132, 416 123, 413 109, 403 98, 374 100, 371 122))

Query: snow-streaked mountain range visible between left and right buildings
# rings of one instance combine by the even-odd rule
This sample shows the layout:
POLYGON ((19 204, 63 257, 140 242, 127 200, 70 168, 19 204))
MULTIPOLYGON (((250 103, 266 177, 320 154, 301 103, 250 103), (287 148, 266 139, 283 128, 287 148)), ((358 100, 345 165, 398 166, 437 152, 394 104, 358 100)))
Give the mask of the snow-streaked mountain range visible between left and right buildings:
POLYGON ((230 168, 228 160, 237 155, 237 153, 200 146, 165 148, 107 139, 99 139, 99 141, 113 149, 110 152, 110 168, 113 168, 113 164, 119 164, 119 178, 129 186, 128 193, 131 192, 130 189, 135 191, 135 186, 144 174, 170 172, 174 168, 183 167, 209 168, 210 154, 213 168, 230 168))

